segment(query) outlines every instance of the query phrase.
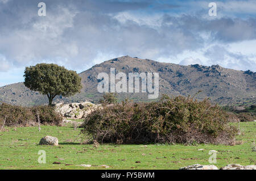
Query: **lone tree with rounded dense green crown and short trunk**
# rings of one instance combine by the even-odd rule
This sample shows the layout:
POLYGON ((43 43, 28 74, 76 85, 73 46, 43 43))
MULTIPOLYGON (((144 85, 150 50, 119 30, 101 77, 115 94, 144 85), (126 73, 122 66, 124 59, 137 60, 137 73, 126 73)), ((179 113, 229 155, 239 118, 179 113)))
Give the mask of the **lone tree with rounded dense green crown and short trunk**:
POLYGON ((57 95, 72 96, 82 89, 81 77, 73 70, 56 64, 37 64, 26 67, 24 85, 32 91, 47 95, 49 105, 57 95))

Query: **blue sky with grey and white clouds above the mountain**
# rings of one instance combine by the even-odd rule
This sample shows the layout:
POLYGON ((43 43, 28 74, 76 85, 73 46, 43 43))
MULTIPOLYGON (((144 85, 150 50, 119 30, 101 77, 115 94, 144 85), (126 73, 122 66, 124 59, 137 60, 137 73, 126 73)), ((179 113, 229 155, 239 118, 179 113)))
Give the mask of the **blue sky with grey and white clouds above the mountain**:
POLYGON ((0 24, 0 86, 42 62, 80 73, 126 55, 256 71, 256 0, 0 0, 0 24))

